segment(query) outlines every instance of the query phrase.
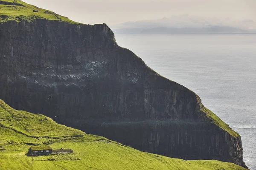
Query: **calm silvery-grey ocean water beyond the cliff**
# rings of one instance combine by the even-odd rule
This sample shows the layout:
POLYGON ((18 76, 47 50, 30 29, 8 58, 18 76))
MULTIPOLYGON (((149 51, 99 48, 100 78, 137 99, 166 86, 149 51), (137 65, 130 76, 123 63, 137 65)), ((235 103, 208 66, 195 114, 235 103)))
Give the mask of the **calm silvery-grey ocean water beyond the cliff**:
POLYGON ((195 91, 241 135, 244 161, 256 170, 256 34, 116 34, 116 42, 195 91))

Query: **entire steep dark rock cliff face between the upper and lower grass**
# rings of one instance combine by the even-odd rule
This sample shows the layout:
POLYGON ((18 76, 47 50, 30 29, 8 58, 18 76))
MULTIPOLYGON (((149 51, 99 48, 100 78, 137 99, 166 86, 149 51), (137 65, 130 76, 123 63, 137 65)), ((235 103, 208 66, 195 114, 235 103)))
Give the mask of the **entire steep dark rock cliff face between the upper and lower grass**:
POLYGON ((0 24, 0 99, 139 150, 246 167, 239 134, 189 89, 116 44, 107 25, 0 24))

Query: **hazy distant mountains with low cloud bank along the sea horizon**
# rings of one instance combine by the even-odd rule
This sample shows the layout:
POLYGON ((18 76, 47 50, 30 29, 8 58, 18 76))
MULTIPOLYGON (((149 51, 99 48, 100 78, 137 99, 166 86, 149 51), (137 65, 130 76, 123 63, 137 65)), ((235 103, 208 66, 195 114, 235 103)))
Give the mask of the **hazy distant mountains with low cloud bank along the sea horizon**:
POLYGON ((238 34, 256 33, 253 20, 230 21, 178 15, 160 20, 126 22, 113 26, 116 34, 238 34))

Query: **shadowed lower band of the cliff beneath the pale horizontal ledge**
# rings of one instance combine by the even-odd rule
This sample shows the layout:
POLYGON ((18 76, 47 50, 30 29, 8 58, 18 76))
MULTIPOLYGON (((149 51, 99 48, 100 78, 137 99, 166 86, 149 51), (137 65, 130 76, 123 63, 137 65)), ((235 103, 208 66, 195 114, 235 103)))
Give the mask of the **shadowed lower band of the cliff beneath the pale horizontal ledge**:
POLYGON ((87 122, 83 128, 88 133, 105 136, 150 153, 185 160, 215 159, 247 168, 239 147, 241 139, 231 136, 213 123, 148 120, 92 125, 87 122))

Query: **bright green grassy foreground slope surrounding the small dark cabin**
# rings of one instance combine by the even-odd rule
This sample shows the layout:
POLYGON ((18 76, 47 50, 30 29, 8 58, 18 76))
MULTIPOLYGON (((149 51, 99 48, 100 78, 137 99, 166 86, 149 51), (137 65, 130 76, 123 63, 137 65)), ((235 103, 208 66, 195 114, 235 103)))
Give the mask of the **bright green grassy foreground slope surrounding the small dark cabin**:
POLYGON ((221 161, 184 161, 89 135, 41 114, 16 111, 0 100, 0 170, 245 170, 221 161), (26 156, 31 146, 73 153, 26 156))

